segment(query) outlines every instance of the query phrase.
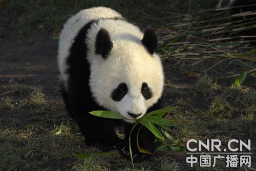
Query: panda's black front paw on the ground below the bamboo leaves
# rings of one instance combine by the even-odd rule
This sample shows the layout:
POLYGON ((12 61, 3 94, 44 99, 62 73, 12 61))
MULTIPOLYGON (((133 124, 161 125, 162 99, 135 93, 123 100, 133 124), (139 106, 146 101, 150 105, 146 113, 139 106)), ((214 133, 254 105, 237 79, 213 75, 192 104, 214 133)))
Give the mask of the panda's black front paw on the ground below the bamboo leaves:
MULTIPOLYGON (((131 160, 131 154, 129 150, 129 144, 122 144, 119 146, 119 151, 121 155, 129 160, 131 160)), ((132 147, 132 154, 133 154, 133 162, 141 162, 147 158, 150 158, 152 155, 140 153, 137 147, 132 147)))

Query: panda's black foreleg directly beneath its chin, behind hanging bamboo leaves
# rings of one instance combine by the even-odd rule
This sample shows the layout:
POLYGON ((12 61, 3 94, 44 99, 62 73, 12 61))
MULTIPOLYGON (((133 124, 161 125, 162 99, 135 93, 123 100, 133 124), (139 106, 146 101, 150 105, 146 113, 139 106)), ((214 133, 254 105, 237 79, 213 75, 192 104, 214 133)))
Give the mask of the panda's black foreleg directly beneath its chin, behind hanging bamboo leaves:
MULTIPOLYGON (((131 159, 130 152, 129 152, 129 137, 130 137, 130 132, 132 130, 133 125, 134 124, 126 123, 124 128, 124 134, 125 134, 124 142, 119 145, 120 153, 127 159, 131 159)), ((137 133, 141 126, 142 126, 141 124, 138 124, 131 134, 131 148, 132 148, 134 162, 140 162, 152 156, 151 154, 141 153, 138 150, 137 133)), ((138 140, 139 140, 139 146, 141 148, 146 149, 148 152, 151 152, 151 153, 155 152, 155 149, 156 149, 155 136, 149 130, 147 130, 146 127, 143 126, 141 128, 138 135, 138 140)))

